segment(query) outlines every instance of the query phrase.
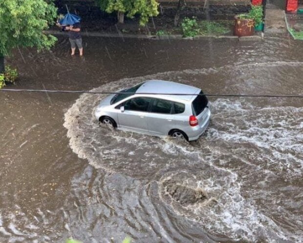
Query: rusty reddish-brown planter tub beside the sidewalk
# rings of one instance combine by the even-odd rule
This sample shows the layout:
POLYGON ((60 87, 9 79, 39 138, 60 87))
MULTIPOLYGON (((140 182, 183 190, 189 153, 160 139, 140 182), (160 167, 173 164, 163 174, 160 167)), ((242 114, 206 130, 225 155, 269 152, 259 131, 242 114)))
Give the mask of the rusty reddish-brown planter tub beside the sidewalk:
POLYGON ((236 36, 251 36, 255 33, 254 19, 244 14, 238 14, 235 16, 235 28, 234 35, 236 36))

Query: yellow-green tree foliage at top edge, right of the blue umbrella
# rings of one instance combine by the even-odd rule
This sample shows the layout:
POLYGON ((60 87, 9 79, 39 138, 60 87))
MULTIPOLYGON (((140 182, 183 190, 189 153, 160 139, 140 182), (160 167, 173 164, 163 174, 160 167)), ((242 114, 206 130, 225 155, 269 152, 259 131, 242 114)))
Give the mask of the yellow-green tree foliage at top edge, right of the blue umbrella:
POLYGON ((118 22, 124 23, 124 14, 133 18, 135 14, 140 14, 140 25, 149 21, 149 17, 157 16, 158 2, 156 0, 96 0, 102 10, 118 14, 118 22))

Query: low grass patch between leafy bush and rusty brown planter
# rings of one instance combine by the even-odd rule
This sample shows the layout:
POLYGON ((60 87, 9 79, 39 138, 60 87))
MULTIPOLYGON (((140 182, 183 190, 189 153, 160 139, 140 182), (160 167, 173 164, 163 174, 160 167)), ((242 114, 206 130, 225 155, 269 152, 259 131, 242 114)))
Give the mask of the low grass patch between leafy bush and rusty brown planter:
POLYGON ((200 35, 223 35, 231 30, 231 23, 220 23, 217 21, 199 21, 199 34, 200 35), (229 24, 229 26, 227 26, 229 24))

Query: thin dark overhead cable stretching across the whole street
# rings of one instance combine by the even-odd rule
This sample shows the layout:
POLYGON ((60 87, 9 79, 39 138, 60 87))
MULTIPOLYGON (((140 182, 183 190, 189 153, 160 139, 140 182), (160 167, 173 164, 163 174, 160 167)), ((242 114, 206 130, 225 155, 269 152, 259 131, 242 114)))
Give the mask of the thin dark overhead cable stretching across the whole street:
POLYGON ((303 95, 247 95, 247 94, 179 94, 179 93, 134 93, 109 92, 88 90, 31 90, 31 89, 0 89, 0 92, 42 92, 42 93, 70 93, 70 94, 101 94, 101 95, 163 95, 163 96, 213 96, 213 97, 277 97, 277 98, 303 98, 303 95))

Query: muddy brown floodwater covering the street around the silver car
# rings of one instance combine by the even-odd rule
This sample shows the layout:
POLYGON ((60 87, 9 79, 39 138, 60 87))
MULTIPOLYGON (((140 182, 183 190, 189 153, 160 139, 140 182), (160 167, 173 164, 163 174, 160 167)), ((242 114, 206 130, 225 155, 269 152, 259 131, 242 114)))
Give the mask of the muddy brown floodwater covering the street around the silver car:
MULTIPOLYGON (((161 78, 206 93, 303 94, 303 43, 84 38, 14 52, 13 88, 161 78)), ((192 143, 102 126, 103 95, 0 93, 0 242, 302 242, 303 100, 210 97, 192 143)))

